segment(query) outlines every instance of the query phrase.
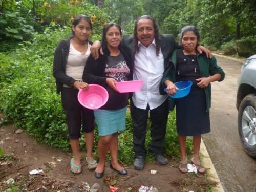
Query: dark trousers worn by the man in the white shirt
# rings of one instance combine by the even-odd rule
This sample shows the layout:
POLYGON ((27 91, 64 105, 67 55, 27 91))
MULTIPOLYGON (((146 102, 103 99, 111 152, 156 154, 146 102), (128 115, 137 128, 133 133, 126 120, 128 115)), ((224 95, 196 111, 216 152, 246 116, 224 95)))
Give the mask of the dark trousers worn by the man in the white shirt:
POLYGON ((145 110, 137 108, 131 101, 131 117, 133 122, 133 147, 135 156, 146 157, 145 148, 146 128, 148 111, 151 120, 151 139, 150 150, 155 154, 162 154, 164 137, 166 133, 166 123, 169 114, 168 98, 157 108, 150 110, 147 104, 145 110))

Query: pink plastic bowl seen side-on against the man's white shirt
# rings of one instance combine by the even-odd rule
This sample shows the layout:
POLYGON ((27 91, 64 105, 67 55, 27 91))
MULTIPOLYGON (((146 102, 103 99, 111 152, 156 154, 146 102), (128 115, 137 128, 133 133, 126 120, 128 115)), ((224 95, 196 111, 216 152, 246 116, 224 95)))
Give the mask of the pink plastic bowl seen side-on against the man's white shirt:
POLYGON ((140 91, 143 80, 115 82, 116 88, 120 93, 140 91))

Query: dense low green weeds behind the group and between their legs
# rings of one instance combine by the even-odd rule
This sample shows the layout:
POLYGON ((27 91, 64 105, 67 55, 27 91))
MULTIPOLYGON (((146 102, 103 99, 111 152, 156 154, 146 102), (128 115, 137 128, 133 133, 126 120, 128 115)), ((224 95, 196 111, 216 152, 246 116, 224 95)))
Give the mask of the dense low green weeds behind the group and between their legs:
MULTIPOLYGON (((60 95, 56 94, 52 63, 58 42, 67 38, 69 33, 70 28, 47 28, 42 34, 34 33, 30 42, 19 44, 14 51, 0 53, 0 111, 4 114, 4 123, 14 122, 16 127, 27 130, 37 141, 65 151, 70 150, 66 117, 60 95)), ((95 35, 93 39, 98 37, 95 35)), ((151 142, 150 125, 148 120, 147 148, 151 142)), ((97 128, 95 135, 94 147, 97 152, 97 128)), ((81 145, 84 147, 82 139, 81 145)), ((187 150, 191 151, 190 141, 187 150)), ((168 157, 179 156, 175 112, 169 114, 164 154, 168 157)), ((148 161, 153 159, 152 154, 147 156, 148 161)), ((134 160, 129 110, 126 130, 119 134, 119 160, 125 164, 134 160)))

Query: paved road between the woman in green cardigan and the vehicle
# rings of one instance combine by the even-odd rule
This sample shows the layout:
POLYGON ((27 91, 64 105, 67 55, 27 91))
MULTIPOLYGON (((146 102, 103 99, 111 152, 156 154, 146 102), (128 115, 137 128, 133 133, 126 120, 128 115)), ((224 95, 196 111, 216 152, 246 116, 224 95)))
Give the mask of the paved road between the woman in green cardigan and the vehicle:
POLYGON ((256 192, 256 160, 243 151, 237 129, 236 92, 242 62, 216 58, 226 77, 212 83, 211 133, 203 140, 225 191, 256 192))

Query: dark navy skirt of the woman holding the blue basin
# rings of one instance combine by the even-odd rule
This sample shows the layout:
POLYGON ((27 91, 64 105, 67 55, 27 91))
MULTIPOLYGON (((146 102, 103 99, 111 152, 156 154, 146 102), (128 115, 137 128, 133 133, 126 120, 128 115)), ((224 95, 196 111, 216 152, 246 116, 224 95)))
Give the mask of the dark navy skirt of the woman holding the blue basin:
POLYGON ((189 95, 175 100, 177 132, 194 136, 210 132, 209 112, 206 112, 204 89, 191 90, 189 95))

